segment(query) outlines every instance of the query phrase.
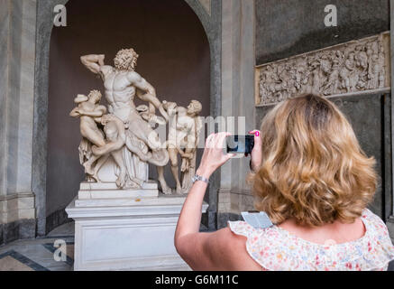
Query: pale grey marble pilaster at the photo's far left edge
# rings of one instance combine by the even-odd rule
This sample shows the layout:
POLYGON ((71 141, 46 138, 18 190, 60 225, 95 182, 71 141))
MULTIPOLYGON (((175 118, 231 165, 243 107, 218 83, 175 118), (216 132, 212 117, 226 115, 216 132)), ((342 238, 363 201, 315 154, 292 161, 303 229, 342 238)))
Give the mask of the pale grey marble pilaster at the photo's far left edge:
POLYGON ((1 0, 0 223, 2 240, 35 236, 32 122, 35 0, 1 0))

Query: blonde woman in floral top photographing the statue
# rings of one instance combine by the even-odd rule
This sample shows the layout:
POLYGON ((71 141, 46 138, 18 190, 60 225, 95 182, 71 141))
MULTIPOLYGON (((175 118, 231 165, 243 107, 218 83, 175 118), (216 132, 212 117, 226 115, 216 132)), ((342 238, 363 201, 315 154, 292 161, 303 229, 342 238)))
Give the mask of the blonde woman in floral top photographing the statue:
MULTIPOLYGON (((207 183, 188 193, 175 234, 179 255, 195 270, 387 270, 394 247, 370 210, 375 161, 362 153, 352 126, 333 103, 288 99, 253 131, 250 176, 255 207, 274 224, 229 222, 199 233, 207 183)), ((206 140, 197 175, 209 179, 232 155, 221 133, 206 140)), ((200 178, 201 179, 201 178, 200 178)))

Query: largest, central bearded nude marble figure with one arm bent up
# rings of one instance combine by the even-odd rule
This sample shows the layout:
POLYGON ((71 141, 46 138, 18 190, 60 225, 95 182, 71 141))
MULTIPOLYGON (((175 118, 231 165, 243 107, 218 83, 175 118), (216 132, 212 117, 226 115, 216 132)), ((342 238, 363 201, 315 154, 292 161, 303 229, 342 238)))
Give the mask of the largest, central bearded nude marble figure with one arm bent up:
MULTIPOLYGON (((103 54, 82 56, 81 61, 88 70, 103 79, 105 98, 109 104, 108 111, 124 122, 125 146, 128 151, 137 155, 142 163, 156 165, 162 191, 169 192, 170 188, 164 181, 163 175, 163 167, 169 162, 169 154, 160 142, 159 135, 137 111, 134 105, 135 96, 149 103, 149 114, 154 114, 155 110, 159 109, 166 121, 169 117, 160 100, 156 98, 155 89, 135 71, 137 58, 138 54, 133 49, 125 49, 116 54, 115 67, 105 65, 103 54)), ((114 144, 110 142, 98 149, 100 154, 106 154, 113 150, 113 146, 114 144)))

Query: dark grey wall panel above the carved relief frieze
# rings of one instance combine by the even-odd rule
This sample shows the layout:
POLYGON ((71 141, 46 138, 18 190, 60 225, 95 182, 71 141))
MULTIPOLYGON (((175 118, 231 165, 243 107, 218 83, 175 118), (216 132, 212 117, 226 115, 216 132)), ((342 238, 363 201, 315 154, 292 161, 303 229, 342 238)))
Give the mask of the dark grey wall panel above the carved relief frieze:
POLYGON ((389 30, 389 0, 256 0, 257 65, 389 30), (325 27, 325 6, 337 26, 325 27))

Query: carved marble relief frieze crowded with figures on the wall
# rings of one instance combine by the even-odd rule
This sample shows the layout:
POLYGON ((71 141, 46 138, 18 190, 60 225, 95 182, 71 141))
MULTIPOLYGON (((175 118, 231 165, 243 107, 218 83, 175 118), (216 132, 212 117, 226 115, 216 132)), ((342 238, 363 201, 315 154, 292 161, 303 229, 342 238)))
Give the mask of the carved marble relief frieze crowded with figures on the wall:
POLYGON ((389 33, 311 51, 256 69, 256 105, 303 93, 325 97, 389 87, 389 33))

